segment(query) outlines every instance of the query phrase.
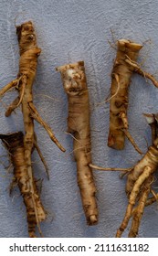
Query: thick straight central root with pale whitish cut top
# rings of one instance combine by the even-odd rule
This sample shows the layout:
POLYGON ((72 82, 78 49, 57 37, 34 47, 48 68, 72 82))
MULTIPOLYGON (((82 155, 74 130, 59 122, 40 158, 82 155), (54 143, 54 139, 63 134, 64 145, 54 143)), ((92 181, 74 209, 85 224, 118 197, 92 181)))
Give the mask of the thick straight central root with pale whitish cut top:
POLYGON ((74 136, 74 155, 77 162, 78 185, 82 205, 89 225, 98 221, 96 187, 90 168, 90 102, 84 62, 79 61, 57 68, 68 94, 68 133, 74 136))

